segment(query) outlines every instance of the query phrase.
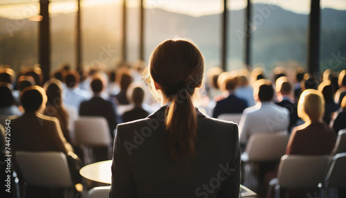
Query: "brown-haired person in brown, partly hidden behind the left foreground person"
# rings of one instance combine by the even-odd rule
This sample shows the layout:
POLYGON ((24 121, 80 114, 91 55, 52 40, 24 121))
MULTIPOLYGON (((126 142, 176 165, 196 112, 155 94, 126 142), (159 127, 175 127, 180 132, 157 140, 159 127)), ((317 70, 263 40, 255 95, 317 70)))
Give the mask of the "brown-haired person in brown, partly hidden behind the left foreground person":
POLYGON ((46 90, 47 102, 44 114, 46 116, 53 116, 60 122, 62 133, 66 140, 71 143, 71 136, 69 131, 69 114, 67 113, 62 101, 62 82, 57 79, 51 79, 44 84, 46 90))

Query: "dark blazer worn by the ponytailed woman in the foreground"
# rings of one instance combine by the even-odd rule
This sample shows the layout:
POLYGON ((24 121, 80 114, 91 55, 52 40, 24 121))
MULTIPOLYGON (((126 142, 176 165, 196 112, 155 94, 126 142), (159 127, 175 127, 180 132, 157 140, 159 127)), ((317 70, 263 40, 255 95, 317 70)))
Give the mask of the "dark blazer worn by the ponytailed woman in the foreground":
POLYGON ((183 163, 170 155, 165 109, 118 125, 110 197, 238 197, 237 125, 209 118, 197 109, 196 155, 183 163))

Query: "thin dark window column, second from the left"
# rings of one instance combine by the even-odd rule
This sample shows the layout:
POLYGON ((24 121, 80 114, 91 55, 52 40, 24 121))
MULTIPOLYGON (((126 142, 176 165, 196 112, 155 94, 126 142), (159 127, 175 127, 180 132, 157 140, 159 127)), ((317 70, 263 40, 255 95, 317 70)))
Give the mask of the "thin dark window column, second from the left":
POLYGON ((76 37, 75 37, 75 60, 76 60, 76 69, 79 71, 82 67, 82 23, 81 23, 81 8, 80 0, 78 0, 78 10, 77 10, 77 22, 76 22, 76 37))

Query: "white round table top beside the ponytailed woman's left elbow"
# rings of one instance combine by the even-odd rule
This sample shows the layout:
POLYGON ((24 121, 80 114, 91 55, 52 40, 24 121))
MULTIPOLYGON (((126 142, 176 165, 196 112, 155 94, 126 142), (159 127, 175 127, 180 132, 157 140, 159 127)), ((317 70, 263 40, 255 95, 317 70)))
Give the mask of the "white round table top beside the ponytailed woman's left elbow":
POLYGON ((82 177, 100 183, 111 183, 111 160, 91 163, 80 169, 82 177))

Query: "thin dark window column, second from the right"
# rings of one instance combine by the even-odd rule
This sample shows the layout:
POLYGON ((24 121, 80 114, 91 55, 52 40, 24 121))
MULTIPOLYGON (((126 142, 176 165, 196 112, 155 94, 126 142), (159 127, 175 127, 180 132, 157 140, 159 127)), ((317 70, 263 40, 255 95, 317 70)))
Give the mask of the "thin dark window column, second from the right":
POLYGON ((248 5, 245 10, 245 55, 244 62, 247 69, 251 68, 251 0, 247 0, 248 5))

